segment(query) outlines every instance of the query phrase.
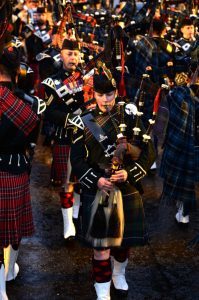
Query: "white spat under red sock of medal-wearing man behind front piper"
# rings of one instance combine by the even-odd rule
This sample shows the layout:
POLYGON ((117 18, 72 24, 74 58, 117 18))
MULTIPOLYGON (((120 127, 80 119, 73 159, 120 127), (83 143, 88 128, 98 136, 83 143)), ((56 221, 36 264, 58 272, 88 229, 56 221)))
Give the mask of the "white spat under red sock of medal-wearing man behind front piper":
POLYGON ((62 208, 61 210, 64 222, 64 238, 74 237, 76 230, 73 223, 73 207, 62 208))

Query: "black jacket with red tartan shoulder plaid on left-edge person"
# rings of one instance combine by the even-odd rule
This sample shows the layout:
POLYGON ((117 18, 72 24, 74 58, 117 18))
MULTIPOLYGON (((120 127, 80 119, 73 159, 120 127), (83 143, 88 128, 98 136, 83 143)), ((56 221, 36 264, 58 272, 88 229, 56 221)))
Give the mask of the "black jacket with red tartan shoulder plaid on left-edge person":
POLYGON ((0 104, 7 103, 0 113, 0 171, 20 174, 29 171, 26 149, 40 118, 37 102, 33 109, 11 89, 9 83, 0 82, 0 104))

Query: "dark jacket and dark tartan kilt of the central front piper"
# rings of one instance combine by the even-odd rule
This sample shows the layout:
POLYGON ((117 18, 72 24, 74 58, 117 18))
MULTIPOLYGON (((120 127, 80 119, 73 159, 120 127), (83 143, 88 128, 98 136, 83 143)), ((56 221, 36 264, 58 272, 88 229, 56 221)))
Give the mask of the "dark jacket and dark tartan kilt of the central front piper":
MULTIPOLYGON (((128 112, 128 106, 126 111, 128 112)), ((126 136, 128 141, 132 141, 135 116, 128 115, 127 112, 124 115, 127 125, 126 136)), ((119 126, 121 119, 119 106, 115 106, 111 114, 119 126)), ((93 111, 85 112, 81 117, 74 117, 70 122, 77 127, 71 146, 71 164, 82 187, 79 236, 87 245, 94 247, 86 238, 91 207, 98 189, 97 182, 100 177, 106 176, 105 169, 111 164, 111 158, 116 149, 117 132, 109 115, 102 113, 98 107, 93 111), (97 122, 104 132, 104 136, 99 136, 98 140, 84 124, 84 118, 87 115, 91 115, 91 122, 97 122), (101 147, 100 139, 102 141, 107 139, 106 149, 101 147)), ((129 157, 124 157, 122 168, 128 172, 128 180, 118 185, 122 191, 125 219, 122 246, 141 245, 146 242, 143 206, 139 193, 141 191, 140 179, 145 176, 153 160, 154 152, 151 143, 143 146, 141 156, 136 162, 129 157)))

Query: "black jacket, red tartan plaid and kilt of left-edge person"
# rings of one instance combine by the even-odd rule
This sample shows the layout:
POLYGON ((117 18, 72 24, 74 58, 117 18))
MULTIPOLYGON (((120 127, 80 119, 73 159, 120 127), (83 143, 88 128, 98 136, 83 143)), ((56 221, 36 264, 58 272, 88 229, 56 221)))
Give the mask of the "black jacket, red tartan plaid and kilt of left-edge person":
MULTIPOLYGON (((0 96, 3 106, 0 126, 0 246, 6 247, 8 244, 18 244, 23 236, 31 235, 34 230, 26 147, 39 118, 30 105, 14 96, 2 83, 0 96)), ((38 105, 35 105, 37 111, 38 105)))

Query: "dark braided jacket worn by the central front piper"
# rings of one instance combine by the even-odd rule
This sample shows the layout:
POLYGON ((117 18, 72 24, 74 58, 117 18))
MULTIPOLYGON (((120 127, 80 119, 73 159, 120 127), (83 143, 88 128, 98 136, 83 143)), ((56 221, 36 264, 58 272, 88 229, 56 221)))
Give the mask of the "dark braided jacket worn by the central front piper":
MULTIPOLYGON (((133 105, 133 104, 132 104, 133 105)), ((82 189, 86 193, 95 194, 97 191, 97 182, 100 177, 106 177, 105 169, 110 166, 111 158, 116 149, 117 129, 115 124, 121 123, 121 113, 118 105, 111 111, 112 119, 108 113, 102 113, 98 107, 93 111, 87 111, 80 116, 76 116, 71 121, 76 125, 74 133, 74 140, 71 147, 71 164, 74 174, 78 177, 82 189), (107 139, 107 149, 103 149, 100 142, 96 140, 91 131, 84 125, 83 116, 91 113, 93 121, 97 121, 101 125, 104 136, 101 139, 107 139)), ((133 161, 130 156, 124 156, 123 165, 121 166, 128 172, 128 179, 126 183, 121 184, 120 188, 125 186, 135 186, 140 188, 140 179, 143 178, 147 170, 152 165, 155 154, 151 142, 147 144, 142 143, 142 134, 144 128, 141 122, 138 126, 141 128, 140 140, 133 138, 133 128, 135 127, 136 118, 133 114, 127 114, 126 107, 124 108, 124 122, 127 125, 125 135, 129 143, 137 144, 142 148, 141 155, 137 161, 133 161)))

